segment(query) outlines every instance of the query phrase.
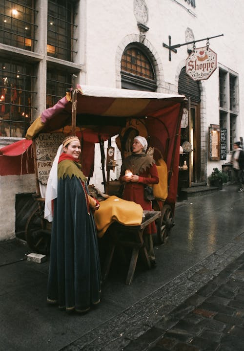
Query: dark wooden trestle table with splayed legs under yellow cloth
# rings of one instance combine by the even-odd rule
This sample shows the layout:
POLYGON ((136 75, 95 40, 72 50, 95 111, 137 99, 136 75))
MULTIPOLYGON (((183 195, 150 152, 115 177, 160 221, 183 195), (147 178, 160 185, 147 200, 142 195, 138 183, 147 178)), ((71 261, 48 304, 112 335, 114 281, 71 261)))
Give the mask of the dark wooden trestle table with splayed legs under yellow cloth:
POLYGON ((103 281, 108 276, 116 246, 132 248, 129 269, 125 281, 126 285, 130 285, 133 280, 139 253, 141 253, 142 259, 145 262, 146 266, 148 268, 151 268, 151 263, 148 258, 147 250, 145 248, 143 240, 143 231, 148 224, 150 224, 155 219, 158 219, 161 216, 161 212, 143 211, 143 214, 144 217, 142 218, 142 223, 140 225, 127 226, 122 225, 118 222, 114 222, 107 229, 106 234, 109 241, 109 249, 105 258, 105 263, 102 271, 103 281))

